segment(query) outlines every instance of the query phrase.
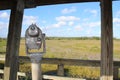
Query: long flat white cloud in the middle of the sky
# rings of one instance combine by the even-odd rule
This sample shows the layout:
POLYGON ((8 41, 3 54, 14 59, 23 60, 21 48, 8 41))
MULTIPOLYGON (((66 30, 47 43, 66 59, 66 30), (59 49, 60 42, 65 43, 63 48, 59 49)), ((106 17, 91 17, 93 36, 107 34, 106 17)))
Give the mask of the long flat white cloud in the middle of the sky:
POLYGON ((57 21, 78 21, 80 18, 75 17, 75 16, 60 16, 56 17, 57 21))

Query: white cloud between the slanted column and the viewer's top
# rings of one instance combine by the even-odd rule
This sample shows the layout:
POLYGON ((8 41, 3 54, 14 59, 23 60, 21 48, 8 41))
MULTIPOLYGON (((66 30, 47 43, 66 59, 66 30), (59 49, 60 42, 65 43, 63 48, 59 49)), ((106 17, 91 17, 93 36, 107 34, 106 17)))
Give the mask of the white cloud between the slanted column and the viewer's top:
POLYGON ((26 16, 26 15, 24 15, 24 17, 23 17, 23 24, 24 25, 30 25, 32 23, 36 23, 37 19, 38 19, 37 16, 26 16))

